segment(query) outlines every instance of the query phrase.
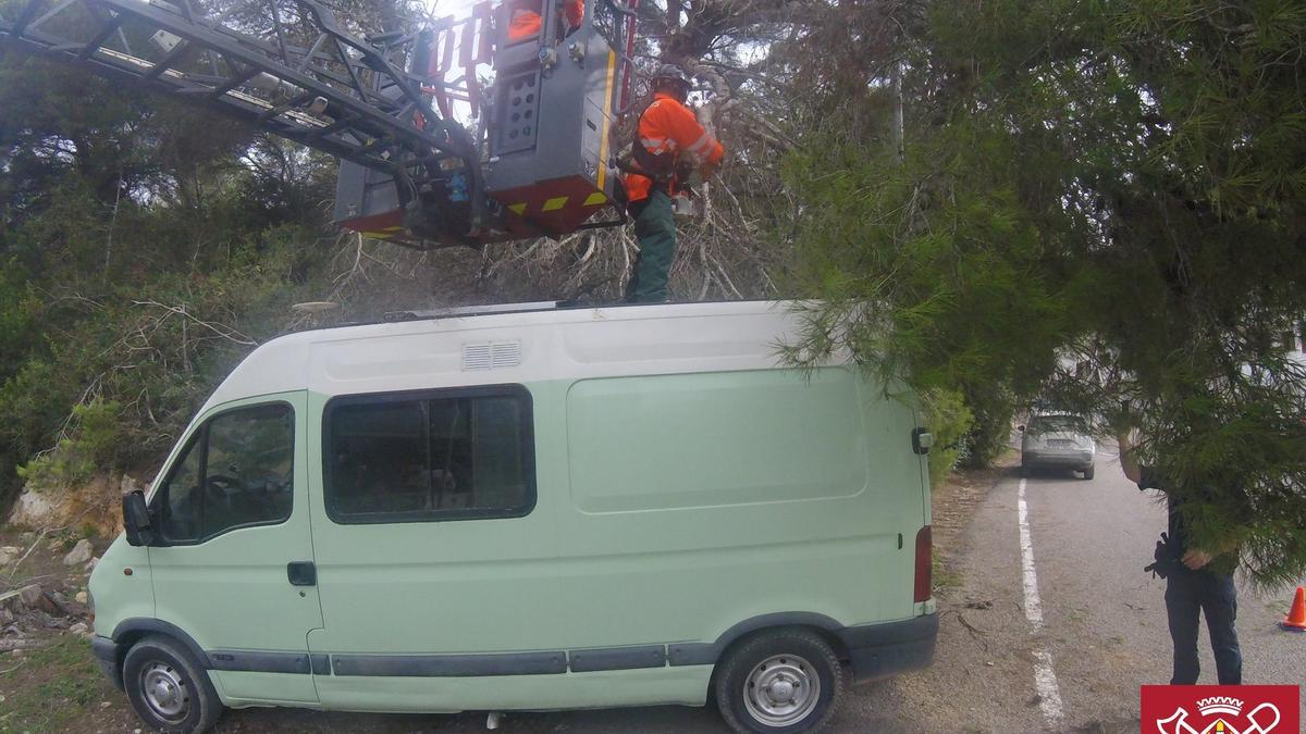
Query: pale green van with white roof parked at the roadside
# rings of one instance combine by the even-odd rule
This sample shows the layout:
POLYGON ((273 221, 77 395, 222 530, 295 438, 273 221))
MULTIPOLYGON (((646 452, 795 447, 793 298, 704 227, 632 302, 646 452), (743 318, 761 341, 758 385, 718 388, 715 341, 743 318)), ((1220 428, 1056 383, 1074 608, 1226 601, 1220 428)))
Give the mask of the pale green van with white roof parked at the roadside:
POLYGON ((213 393, 90 580, 154 729, 223 707, 703 705, 806 731, 930 663, 912 401, 777 362, 785 303, 302 332, 213 393))

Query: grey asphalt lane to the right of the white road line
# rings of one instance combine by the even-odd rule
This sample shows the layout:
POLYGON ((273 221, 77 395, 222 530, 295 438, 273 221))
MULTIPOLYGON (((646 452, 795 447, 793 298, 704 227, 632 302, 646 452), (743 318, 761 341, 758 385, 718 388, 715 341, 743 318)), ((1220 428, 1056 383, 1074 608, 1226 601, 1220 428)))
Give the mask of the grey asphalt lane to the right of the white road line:
MULTIPOLYGON (((1049 630, 1057 631, 1058 673, 1088 684, 1063 692, 1071 721, 1110 716, 1131 696, 1128 710, 1136 713, 1139 683, 1166 683, 1170 677, 1165 581, 1140 571, 1165 529, 1164 496, 1140 492, 1124 479, 1114 456, 1102 456, 1098 464, 1104 466, 1087 488, 1060 477, 1030 479, 1027 487, 1042 594, 1051 607, 1049 630), (1076 637, 1083 643, 1076 644, 1076 637), (1084 643, 1092 646, 1085 649, 1084 643), (1117 661, 1123 675, 1111 680, 1109 671, 1117 661), (1114 701, 1113 708, 1088 695, 1092 690, 1110 694, 1106 700, 1114 701)), ((1301 684, 1306 680, 1306 635, 1277 627, 1290 593, 1262 596, 1246 579, 1237 581, 1243 682, 1301 684)), ((1202 635, 1199 682, 1213 684, 1205 627, 1202 635)))

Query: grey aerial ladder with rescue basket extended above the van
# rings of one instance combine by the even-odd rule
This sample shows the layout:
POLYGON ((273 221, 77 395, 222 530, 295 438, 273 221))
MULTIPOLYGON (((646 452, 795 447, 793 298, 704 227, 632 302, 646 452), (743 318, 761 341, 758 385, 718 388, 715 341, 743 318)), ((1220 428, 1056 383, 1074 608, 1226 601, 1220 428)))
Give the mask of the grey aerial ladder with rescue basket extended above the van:
POLYGON ((334 221, 419 249, 620 225, 639 0, 490 0, 415 31, 317 0, 0 0, 0 50, 145 85, 340 158, 334 221), (541 27, 509 39, 511 13, 541 27), (482 86, 477 68, 491 65, 482 86), (456 118, 468 110, 475 132, 456 118))

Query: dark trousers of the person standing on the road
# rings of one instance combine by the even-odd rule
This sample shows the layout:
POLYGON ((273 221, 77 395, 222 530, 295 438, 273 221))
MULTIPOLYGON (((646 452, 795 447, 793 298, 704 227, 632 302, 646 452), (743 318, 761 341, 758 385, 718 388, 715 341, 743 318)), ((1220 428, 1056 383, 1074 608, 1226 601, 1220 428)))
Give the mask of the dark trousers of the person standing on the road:
POLYGON ((1221 686, 1242 683, 1242 652, 1238 649, 1238 592, 1233 576, 1209 571, 1177 569, 1166 579, 1165 611, 1170 618, 1174 641, 1174 677, 1171 686, 1192 686, 1202 665, 1198 662, 1198 615, 1207 616, 1211 649, 1216 657, 1216 675, 1221 686))

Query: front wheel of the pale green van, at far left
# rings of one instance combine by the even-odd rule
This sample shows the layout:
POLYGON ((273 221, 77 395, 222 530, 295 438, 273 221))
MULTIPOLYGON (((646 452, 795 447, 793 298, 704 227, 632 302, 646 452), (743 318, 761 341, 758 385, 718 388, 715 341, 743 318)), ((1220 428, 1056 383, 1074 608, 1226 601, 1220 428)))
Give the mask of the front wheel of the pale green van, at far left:
POLYGON ((123 683, 136 716, 155 731, 200 734, 222 713, 218 692, 200 663, 161 635, 127 650, 123 683))

